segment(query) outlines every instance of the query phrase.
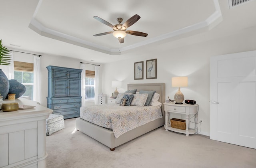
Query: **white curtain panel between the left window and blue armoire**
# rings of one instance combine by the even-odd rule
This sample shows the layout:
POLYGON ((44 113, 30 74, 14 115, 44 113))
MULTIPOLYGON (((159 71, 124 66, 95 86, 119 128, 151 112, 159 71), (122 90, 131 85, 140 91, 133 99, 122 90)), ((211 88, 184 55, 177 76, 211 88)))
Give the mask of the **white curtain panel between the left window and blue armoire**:
POLYGON ((41 103, 41 67, 40 57, 34 56, 34 89, 33 100, 41 103))

